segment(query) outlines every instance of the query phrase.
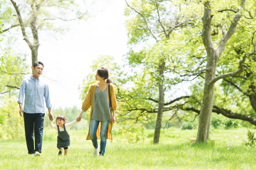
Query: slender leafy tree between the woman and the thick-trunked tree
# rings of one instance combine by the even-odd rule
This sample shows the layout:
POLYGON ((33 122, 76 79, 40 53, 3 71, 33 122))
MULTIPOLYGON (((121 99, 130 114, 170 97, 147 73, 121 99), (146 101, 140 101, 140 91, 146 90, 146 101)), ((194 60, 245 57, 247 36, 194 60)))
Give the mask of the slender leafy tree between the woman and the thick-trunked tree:
MULTIPOLYGON (((193 27, 195 24, 195 20, 197 19, 197 15, 196 15, 197 11, 196 10, 193 12, 191 11, 191 9, 193 9, 193 5, 198 4, 194 1, 191 1, 190 4, 187 4, 186 1, 172 2, 167 0, 161 0, 161 1, 158 1, 158 0, 144 1, 143 0, 140 3, 138 0, 134 0, 132 1, 132 5, 130 5, 127 1, 126 1, 126 4, 129 7, 125 11, 126 15, 134 16, 133 18, 128 20, 127 26, 126 26, 129 31, 128 36, 130 38, 129 40, 130 44, 136 45, 143 41, 150 41, 150 38, 153 37, 156 44, 160 43, 160 46, 162 46, 163 48, 167 47, 168 44, 169 45, 171 44, 170 42, 172 41, 175 42, 174 37, 176 38, 179 37, 179 35, 176 35, 176 33, 174 33, 174 32, 177 32, 176 30, 180 30, 181 28, 184 28, 184 27, 189 27, 189 28, 193 27), (174 35, 171 36, 171 34, 174 34, 174 35), (165 46, 165 43, 167 44, 166 46, 165 46)), ((153 48, 151 48, 151 52, 154 53, 153 51, 157 51, 156 48, 160 46, 155 45, 153 48)), ((179 48, 180 47, 177 47, 177 49, 179 48)), ((171 49, 175 49, 175 48, 171 48, 171 49)), ((171 51, 171 49, 169 49, 169 51, 171 51)), ((131 54, 137 55, 132 51, 130 52, 129 55, 131 54)), ((145 108, 142 109, 138 107, 130 108, 127 110, 127 111, 141 110, 141 114, 143 114, 143 112, 154 113, 157 111, 154 143, 159 142, 160 131, 162 126, 162 114, 163 114, 164 105, 165 105, 164 92, 166 90, 166 86, 168 86, 168 85, 165 86, 165 80, 167 79, 165 78, 165 73, 167 70, 170 70, 170 68, 173 66, 173 65, 170 65, 170 63, 172 62, 168 62, 170 56, 173 54, 174 53, 161 54, 160 52, 160 53, 155 53, 155 56, 149 54, 148 57, 144 57, 144 58, 140 57, 140 59, 142 60, 146 58, 147 61, 144 62, 144 64, 152 63, 151 65, 149 65, 149 67, 154 68, 157 71, 157 74, 152 74, 154 75, 154 77, 151 76, 151 78, 157 81, 158 99, 152 99, 151 101, 157 102, 158 108, 157 109, 154 108, 151 111, 145 108)), ((130 61, 132 61, 133 57, 130 56, 129 58, 131 59, 130 61)), ((141 63, 141 60, 139 61, 139 63, 141 63)), ((146 68, 146 65, 143 65, 143 66, 145 66, 146 68)), ((147 69, 149 67, 147 67, 147 69)), ((151 99, 151 98, 148 97, 148 99, 151 99)))

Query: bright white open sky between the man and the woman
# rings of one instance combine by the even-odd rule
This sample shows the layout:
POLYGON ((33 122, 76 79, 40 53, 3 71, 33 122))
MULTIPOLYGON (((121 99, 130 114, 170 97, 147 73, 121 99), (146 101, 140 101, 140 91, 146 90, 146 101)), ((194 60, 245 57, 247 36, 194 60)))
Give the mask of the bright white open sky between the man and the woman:
MULTIPOLYGON (((94 13, 87 21, 70 22, 70 31, 58 36, 58 40, 39 37, 38 61, 45 64, 42 76, 47 77, 54 109, 81 108, 78 87, 90 71, 92 61, 100 55, 110 55, 115 62, 122 63, 123 55, 128 52, 125 1, 98 0, 95 5, 103 11, 94 13)), ((30 49, 24 40, 19 41, 31 64, 30 49)))

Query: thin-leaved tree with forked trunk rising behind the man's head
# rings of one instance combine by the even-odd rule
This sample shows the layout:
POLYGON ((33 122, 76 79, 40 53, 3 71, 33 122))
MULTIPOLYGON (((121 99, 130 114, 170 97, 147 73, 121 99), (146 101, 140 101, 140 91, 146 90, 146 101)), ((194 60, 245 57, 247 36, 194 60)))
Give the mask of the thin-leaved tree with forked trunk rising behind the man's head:
POLYGON ((21 30, 23 40, 31 50, 32 66, 37 61, 39 32, 64 32, 63 28, 54 27, 52 21, 56 19, 70 21, 88 17, 88 9, 80 10, 83 6, 79 7, 73 0, 22 0, 19 4, 15 0, 5 0, 0 5, 0 19, 4 20, 2 31, 17 28, 19 33, 21 30))

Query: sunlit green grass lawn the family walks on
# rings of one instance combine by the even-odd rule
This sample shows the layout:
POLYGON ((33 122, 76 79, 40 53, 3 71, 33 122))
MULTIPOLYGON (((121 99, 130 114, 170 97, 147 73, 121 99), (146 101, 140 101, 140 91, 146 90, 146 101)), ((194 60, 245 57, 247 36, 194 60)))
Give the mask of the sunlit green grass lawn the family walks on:
MULTIPOLYGON (((121 136, 107 140, 105 157, 93 157, 87 130, 71 130, 68 156, 57 156, 56 131, 44 130, 41 157, 27 154, 25 139, 0 141, 0 169, 256 169, 256 149, 245 147, 247 129, 213 129, 216 142, 192 144, 197 130, 170 128, 152 144, 153 130, 145 139, 128 143, 121 136), (147 137, 149 136, 149 137, 147 137)), ((100 142, 98 140, 98 142, 100 142)))

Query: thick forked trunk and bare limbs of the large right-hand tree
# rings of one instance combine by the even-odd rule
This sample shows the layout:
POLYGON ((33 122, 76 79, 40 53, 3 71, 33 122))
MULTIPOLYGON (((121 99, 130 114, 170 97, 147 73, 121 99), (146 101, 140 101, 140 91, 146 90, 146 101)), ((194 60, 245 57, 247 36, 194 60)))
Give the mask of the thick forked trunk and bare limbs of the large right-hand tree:
MULTIPOLYGON (((219 41, 217 47, 214 47, 214 44, 211 39, 211 27, 212 27, 212 18, 214 14, 212 14, 213 3, 210 1, 204 2, 204 16, 202 17, 203 21, 203 29, 202 29, 202 40, 207 51, 207 65, 206 65, 206 74, 205 74, 205 85, 204 85, 204 96, 202 100, 202 106, 200 109, 199 115, 199 127, 197 134, 197 142, 204 142, 209 138, 209 130, 210 130, 210 120, 211 113, 213 109, 214 102, 214 85, 215 82, 222 78, 227 78, 230 76, 239 75, 244 71, 244 62, 248 55, 255 55, 254 52, 246 53, 243 55, 241 60, 239 61, 239 69, 233 72, 225 73, 215 77, 217 62, 220 59, 220 56, 231 36, 235 33, 237 24, 242 17, 241 9, 245 8, 245 0, 241 1, 240 8, 237 7, 237 10, 232 9, 222 9, 216 12, 223 11, 232 11, 235 13, 234 19, 232 20, 228 31, 226 31, 226 26, 222 25, 222 38, 219 41)), ((216 13, 215 12, 215 13, 216 13)))

